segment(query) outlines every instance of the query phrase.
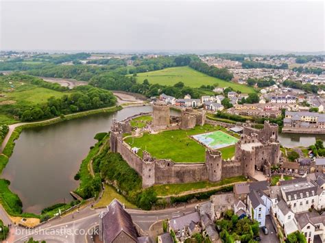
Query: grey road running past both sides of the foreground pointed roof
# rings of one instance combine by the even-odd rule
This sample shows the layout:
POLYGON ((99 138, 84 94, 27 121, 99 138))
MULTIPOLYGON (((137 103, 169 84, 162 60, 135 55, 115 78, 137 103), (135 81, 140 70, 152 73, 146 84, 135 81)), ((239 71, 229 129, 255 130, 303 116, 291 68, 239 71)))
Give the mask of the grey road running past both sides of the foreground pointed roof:
MULTIPOLYGON (((135 225, 141 227, 144 232, 149 231, 149 228, 154 222, 177 218, 195 211, 197 204, 186 205, 184 207, 169 208, 156 211, 143 211, 137 209, 127 209, 130 213, 135 225)), ((29 238, 34 240, 45 240, 51 242, 89 242, 90 235, 87 232, 92 232, 91 229, 99 223, 99 213, 105 209, 91 209, 91 206, 80 209, 80 212, 74 212, 62 218, 49 221, 40 227, 33 230, 25 230, 17 227, 12 229, 10 242, 24 242, 29 238), (16 234, 15 234, 16 232, 16 234)))

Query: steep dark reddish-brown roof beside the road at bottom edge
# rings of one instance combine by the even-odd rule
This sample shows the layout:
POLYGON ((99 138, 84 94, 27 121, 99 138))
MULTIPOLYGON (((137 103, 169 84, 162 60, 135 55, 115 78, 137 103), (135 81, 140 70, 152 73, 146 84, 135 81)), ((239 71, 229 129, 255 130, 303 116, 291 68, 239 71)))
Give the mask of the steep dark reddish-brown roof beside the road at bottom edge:
POLYGON ((117 235, 122 231, 128 234, 134 242, 138 241, 132 218, 117 199, 114 199, 110 205, 108 205, 108 212, 104 215, 102 220, 106 242, 115 240, 117 235))

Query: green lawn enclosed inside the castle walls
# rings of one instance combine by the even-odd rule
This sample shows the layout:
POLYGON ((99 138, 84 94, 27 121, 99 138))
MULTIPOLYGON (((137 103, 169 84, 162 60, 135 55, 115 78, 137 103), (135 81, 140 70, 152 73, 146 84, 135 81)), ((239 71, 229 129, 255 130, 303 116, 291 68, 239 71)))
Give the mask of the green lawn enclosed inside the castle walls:
MULTIPOLYGON (((186 163, 204 162, 206 148, 191 138, 191 136, 220 129, 224 128, 204 125, 203 127, 197 126, 189 130, 179 129, 163 131, 157 134, 144 133, 141 138, 125 138, 125 142, 132 147, 140 148, 138 152, 140 157, 142 157, 142 151, 146 150, 158 159, 172 159, 173 162, 186 163)), ((229 154, 232 151, 234 149, 226 151, 225 155, 230 156, 229 154)))

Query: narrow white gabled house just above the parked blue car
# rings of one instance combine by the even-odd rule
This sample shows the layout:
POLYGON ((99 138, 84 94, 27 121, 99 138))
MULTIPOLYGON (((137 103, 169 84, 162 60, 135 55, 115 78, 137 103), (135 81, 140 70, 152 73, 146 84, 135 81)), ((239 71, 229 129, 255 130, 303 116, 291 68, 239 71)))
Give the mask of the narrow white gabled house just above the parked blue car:
POLYGON ((258 221, 259 227, 265 226, 266 206, 255 190, 248 194, 247 205, 249 214, 258 221))

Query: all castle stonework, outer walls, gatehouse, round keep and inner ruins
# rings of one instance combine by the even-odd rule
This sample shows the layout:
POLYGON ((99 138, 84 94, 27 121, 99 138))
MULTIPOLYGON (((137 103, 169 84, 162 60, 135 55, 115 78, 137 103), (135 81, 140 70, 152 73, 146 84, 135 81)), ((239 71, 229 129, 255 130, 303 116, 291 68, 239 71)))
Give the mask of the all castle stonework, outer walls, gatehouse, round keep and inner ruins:
MULTIPOLYGON (((139 116, 142 116, 140 114, 139 116)), ((180 120, 173 124, 169 107, 163 104, 153 106, 152 130, 191 129, 204 125, 205 114, 199 110, 183 110, 180 120), (171 128, 172 127, 172 128, 171 128)), ((235 145, 232 160, 224 160, 217 150, 206 149, 205 162, 175 163, 171 159, 157 159, 147 151, 139 157, 129 144, 123 141, 123 133, 130 133, 130 120, 114 120, 110 131, 110 149, 120 153, 128 164, 143 178, 143 188, 155 184, 190 183, 196 181, 220 181, 228 177, 244 175, 254 176, 255 170, 269 173, 272 164, 280 159, 280 142, 278 142, 278 125, 265 121, 263 129, 245 126, 241 139, 235 145)))

